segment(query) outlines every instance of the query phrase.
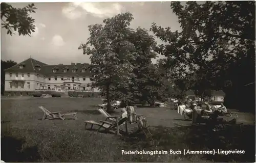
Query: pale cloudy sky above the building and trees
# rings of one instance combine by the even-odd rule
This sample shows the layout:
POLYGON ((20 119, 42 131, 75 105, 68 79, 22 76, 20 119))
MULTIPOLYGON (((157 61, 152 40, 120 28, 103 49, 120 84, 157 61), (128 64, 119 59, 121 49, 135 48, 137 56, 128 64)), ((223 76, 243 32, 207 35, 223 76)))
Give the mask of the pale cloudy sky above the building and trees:
MULTIPOLYGON (((28 5, 9 4, 19 8, 28 5)), ((36 13, 31 16, 35 19, 36 30, 31 37, 10 36, 1 28, 2 60, 19 63, 31 56, 46 64, 91 63, 90 56, 78 50, 80 43, 90 37, 88 25, 101 24, 103 19, 124 12, 133 14, 133 29, 140 26, 150 30, 156 22, 162 27, 169 26, 172 31, 180 31, 178 17, 170 9, 170 2, 35 3, 35 7, 36 13)))

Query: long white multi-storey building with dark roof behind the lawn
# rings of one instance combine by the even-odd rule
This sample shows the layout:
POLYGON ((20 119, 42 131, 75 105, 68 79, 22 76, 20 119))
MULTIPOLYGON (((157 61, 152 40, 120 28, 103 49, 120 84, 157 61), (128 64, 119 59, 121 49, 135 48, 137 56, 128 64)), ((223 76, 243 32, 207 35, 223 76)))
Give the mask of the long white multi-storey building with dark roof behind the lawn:
POLYGON ((5 70, 5 91, 88 91, 92 89, 88 64, 48 65, 29 58, 5 70))

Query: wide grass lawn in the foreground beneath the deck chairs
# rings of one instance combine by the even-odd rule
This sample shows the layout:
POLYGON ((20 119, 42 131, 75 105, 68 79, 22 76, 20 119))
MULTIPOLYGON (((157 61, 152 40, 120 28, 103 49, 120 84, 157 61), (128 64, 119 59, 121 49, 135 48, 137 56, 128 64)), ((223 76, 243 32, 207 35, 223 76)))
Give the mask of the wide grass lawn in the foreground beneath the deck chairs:
MULTIPOLYGON (((118 137, 95 130, 84 130, 84 120, 104 120, 98 113, 97 98, 3 98, 1 100, 1 152, 6 162, 214 162, 255 161, 255 115, 239 113, 245 125, 237 129, 212 133, 204 125, 191 126, 191 121, 169 108, 138 107, 155 141, 144 137, 118 137), (51 112, 75 111, 78 120, 40 120, 38 106, 51 112), (231 133, 232 132, 232 133, 231 133), (121 151, 154 150, 245 150, 241 155, 165 154, 122 155, 121 151)), ((116 114, 120 114, 120 109, 116 114), (119 113, 118 113, 119 112, 119 113)), ((129 125, 129 131, 136 128, 129 125)))

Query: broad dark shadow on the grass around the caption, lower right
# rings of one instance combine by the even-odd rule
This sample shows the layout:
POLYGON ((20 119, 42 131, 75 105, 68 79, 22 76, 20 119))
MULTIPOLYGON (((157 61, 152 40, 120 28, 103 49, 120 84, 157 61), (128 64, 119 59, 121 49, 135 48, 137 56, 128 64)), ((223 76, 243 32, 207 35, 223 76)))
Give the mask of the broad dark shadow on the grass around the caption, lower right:
MULTIPOLYGON (((122 137, 125 142, 125 149, 134 150, 244 150, 245 154, 202 154, 202 155, 180 155, 179 158, 185 158, 195 161, 206 159, 215 162, 253 162, 255 161, 255 126, 243 125, 242 131, 239 127, 227 126, 226 130, 214 132, 206 125, 200 126, 181 126, 181 127, 163 127, 155 126, 151 128, 153 134, 154 146, 145 135, 140 133, 133 137, 122 137)), ((173 159, 176 159, 173 157, 173 159)), ((150 160, 148 160, 150 161, 150 160)), ((172 161, 172 160, 169 160, 172 161)))

